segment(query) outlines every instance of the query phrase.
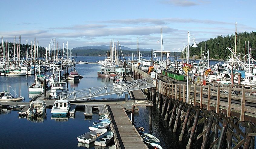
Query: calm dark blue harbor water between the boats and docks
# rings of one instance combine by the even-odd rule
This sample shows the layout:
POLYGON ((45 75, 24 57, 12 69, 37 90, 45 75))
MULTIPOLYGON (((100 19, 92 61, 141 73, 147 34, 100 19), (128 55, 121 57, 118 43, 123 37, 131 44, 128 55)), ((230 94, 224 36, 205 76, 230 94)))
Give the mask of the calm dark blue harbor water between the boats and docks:
MULTIPOLYGON (((104 57, 77 57, 76 61, 95 62, 104 57)), ((69 91, 111 84, 109 78, 98 78, 98 64, 78 64, 75 66, 78 73, 84 78, 79 82, 68 82, 69 91)), ((70 72, 73 68, 69 68, 70 72)), ((49 75, 51 72, 47 72, 49 75)), ((18 96, 25 96, 29 101, 28 86, 34 83, 35 76, 0 76, 0 91, 10 91, 18 96), (11 87, 10 87, 11 86, 11 87), (12 90, 13 89, 13 90, 12 90)), ((97 97, 96 99, 120 99, 124 94, 97 97)), ((130 98, 130 97, 128 97, 130 98)), ((77 136, 89 131, 88 126, 98 120, 98 112, 93 113, 92 119, 85 119, 84 109, 78 109, 75 116, 69 118, 52 118, 50 109, 46 115, 36 119, 18 117, 18 111, 1 109, 0 127, 2 128, 0 148, 94 148, 94 145, 83 146, 78 144, 77 136)), ((136 127, 144 127, 146 133, 155 135, 160 139, 160 145, 165 148, 186 148, 189 135, 185 134, 183 141, 178 141, 179 132, 173 133, 168 122, 161 117, 161 112, 153 108, 153 125, 149 125, 149 108, 139 107, 135 113, 136 127)), ((128 114, 130 116, 130 114, 128 114)), ((200 148, 201 139, 193 143, 191 148, 200 148)))

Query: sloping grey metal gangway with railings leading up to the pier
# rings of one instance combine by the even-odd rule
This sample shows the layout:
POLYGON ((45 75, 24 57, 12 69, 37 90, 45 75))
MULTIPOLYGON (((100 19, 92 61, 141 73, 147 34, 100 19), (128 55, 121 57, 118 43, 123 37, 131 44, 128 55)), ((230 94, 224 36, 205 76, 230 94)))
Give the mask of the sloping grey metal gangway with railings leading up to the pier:
POLYGON ((147 89, 155 87, 152 78, 138 79, 121 83, 114 83, 106 86, 92 87, 87 89, 79 89, 70 92, 62 92, 58 96, 58 100, 82 100, 99 96, 106 96, 122 92, 134 91, 138 89, 147 89))

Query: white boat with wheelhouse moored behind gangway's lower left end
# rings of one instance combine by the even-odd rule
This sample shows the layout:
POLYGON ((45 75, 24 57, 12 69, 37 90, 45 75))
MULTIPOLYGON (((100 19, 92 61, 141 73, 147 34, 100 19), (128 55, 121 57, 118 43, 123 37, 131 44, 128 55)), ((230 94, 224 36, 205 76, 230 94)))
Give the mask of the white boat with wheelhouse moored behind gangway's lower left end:
POLYGON ((58 98, 59 94, 62 92, 67 92, 67 83, 66 82, 56 82, 52 83, 52 88, 51 88, 51 96, 52 98, 58 98))

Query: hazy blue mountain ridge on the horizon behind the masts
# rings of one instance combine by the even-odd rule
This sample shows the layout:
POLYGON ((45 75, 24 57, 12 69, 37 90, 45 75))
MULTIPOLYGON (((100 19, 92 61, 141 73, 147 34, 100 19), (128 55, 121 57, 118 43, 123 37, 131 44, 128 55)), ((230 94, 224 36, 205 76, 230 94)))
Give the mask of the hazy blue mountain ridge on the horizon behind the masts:
MULTIPOLYGON (((109 50, 109 46, 101 45, 101 46, 84 46, 84 47, 75 47, 72 50, 88 50, 88 49, 98 49, 98 50, 109 50)), ((137 49, 131 49, 128 47, 121 46, 122 50, 128 51, 136 51, 137 49)), ((151 51, 151 49, 142 49, 139 48, 140 51, 151 51)))

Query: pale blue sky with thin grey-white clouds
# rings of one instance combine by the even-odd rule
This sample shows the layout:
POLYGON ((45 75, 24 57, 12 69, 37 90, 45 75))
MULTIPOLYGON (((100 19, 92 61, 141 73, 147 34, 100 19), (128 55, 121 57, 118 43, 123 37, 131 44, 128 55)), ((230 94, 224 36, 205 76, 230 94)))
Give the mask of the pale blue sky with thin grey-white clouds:
MULTIPOLYGON (((8 0, 1 1, 0 36, 21 44, 38 42, 68 49, 110 45, 180 51, 188 31, 196 43, 256 31, 253 0, 8 0)), ((2 41, 0 41, 2 42, 2 41)), ((190 37, 189 44, 193 44, 190 37)))

